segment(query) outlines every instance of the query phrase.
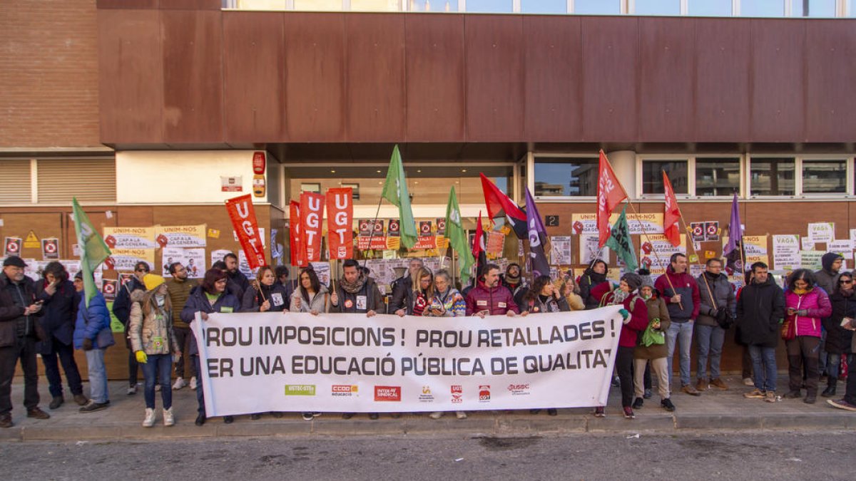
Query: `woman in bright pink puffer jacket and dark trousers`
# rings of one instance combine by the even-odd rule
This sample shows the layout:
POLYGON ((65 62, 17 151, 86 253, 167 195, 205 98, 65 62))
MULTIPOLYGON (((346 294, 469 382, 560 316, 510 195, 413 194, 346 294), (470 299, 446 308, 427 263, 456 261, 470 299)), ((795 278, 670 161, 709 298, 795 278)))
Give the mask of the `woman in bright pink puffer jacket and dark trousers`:
POLYGON ((782 338, 788 350, 788 393, 786 398, 802 396, 803 365, 805 364, 805 399, 813 404, 817 401, 818 352, 820 350, 821 319, 832 314, 829 296, 817 282, 811 270, 794 270, 788 276, 785 292, 787 317, 782 326, 782 338))

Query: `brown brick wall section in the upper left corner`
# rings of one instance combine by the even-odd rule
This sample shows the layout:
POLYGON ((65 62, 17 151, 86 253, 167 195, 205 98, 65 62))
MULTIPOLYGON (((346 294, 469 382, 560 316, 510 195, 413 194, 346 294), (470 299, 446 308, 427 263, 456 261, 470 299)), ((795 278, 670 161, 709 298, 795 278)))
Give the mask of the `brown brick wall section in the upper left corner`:
POLYGON ((0 148, 98 142, 95 0, 0 2, 0 148))

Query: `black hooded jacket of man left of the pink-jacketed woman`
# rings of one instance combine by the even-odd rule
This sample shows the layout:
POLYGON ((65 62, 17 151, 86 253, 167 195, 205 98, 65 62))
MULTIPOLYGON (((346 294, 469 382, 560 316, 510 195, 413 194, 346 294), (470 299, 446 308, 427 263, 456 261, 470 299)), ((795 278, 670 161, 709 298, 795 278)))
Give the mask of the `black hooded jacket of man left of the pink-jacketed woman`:
POLYGON ((776 347, 784 315, 785 295, 772 277, 767 277, 763 284, 748 284, 737 300, 740 341, 751 346, 776 347))

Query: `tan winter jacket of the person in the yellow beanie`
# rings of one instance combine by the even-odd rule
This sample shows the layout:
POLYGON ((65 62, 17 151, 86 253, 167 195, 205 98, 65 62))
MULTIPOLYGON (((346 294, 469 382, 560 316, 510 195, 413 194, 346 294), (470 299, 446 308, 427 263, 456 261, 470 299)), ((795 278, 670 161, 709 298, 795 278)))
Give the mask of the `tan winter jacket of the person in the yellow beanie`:
MULTIPOLYGON (((146 294, 154 293, 149 291, 146 294)), ((131 318, 128 320, 131 351, 143 351, 149 356, 181 352, 181 346, 178 345, 172 328, 172 311, 158 307, 154 295, 148 297, 146 294, 140 294, 140 291, 131 294, 131 300, 134 301, 131 304, 131 318), (144 312, 144 303, 150 307, 148 313, 144 312)))

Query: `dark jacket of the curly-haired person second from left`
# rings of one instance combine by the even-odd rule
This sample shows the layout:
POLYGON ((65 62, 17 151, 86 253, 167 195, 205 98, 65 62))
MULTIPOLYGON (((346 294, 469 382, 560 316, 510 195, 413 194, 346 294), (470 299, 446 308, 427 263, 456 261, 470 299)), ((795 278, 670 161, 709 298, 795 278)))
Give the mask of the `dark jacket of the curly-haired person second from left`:
POLYGON ((74 321, 77 320, 77 291, 74 282, 64 281, 56 286, 53 295, 45 292, 47 281, 41 280, 35 283, 36 299, 42 300, 44 315, 39 318, 42 330, 45 330, 46 340, 39 342, 36 350, 39 354, 50 354, 53 352, 51 339, 70 346, 74 336, 74 321))

